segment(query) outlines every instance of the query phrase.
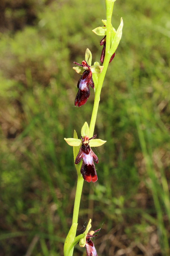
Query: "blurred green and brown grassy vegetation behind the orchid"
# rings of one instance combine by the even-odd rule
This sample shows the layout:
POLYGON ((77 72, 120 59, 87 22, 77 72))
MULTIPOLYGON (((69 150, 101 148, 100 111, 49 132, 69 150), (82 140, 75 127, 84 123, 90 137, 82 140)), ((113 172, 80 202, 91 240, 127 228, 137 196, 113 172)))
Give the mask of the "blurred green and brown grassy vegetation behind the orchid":
MULTIPOLYGON (((124 29, 109 64, 93 149, 98 181, 84 182, 78 234, 92 218, 102 227, 98 255, 169 256, 170 13, 167 0, 115 3, 112 24, 124 29)), ((94 91, 74 107, 73 61, 88 47, 99 61, 92 29, 105 19, 104 0, 1 1, 0 255, 63 255, 77 174, 64 137, 90 123, 94 91)), ((75 247, 74 255, 83 254, 75 247)))

